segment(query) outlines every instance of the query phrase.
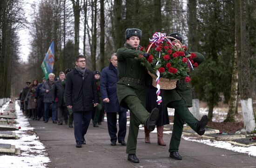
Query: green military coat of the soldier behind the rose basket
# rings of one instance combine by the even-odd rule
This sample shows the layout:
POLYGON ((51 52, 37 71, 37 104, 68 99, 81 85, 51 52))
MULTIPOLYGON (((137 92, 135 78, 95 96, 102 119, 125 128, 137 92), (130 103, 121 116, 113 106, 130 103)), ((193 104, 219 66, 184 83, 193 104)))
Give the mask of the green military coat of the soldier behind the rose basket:
MULTIPOLYGON (((194 52, 196 57, 193 58, 194 62, 197 62, 198 65, 204 61, 204 56, 201 53, 194 52)), ((163 103, 166 106, 172 101, 184 100, 188 107, 192 107, 192 90, 191 84, 189 83, 179 83, 176 84, 175 89, 171 90, 161 90, 163 94, 163 103)), ((171 106, 168 106, 172 108, 171 106)))

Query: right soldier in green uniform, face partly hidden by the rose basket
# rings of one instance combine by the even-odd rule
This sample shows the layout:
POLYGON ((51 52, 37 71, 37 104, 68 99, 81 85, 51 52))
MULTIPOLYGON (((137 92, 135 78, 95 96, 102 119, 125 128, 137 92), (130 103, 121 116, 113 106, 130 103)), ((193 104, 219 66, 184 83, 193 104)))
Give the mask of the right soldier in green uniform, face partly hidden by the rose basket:
MULTIPOLYGON (((178 41, 171 39, 172 43, 175 44, 179 50, 182 46, 182 35, 179 33, 169 34, 168 37, 174 37, 178 41)), ((204 56, 198 52, 194 52, 196 57, 193 59, 198 64, 204 61, 204 56)), ((190 54, 185 51, 185 55, 190 54)), ((178 150, 181 142, 183 125, 186 122, 197 134, 202 136, 205 132, 205 126, 207 125, 208 118, 206 115, 202 116, 201 120, 198 121, 188 107, 192 107, 192 91, 190 83, 184 80, 177 81, 176 88, 171 90, 162 90, 163 103, 169 108, 175 109, 174 114, 174 125, 172 131, 172 137, 169 145, 169 157, 176 160, 182 160, 182 156, 179 155, 178 150)))

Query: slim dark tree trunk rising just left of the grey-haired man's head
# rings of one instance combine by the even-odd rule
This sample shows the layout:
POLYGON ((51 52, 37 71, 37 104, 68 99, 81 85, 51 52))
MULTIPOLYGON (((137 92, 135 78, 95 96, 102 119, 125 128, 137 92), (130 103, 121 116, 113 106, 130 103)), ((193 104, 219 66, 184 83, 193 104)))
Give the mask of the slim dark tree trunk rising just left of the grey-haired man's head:
POLYGON ((101 0, 101 39, 100 39, 100 69, 104 68, 105 55, 105 15, 104 15, 104 0, 101 0))

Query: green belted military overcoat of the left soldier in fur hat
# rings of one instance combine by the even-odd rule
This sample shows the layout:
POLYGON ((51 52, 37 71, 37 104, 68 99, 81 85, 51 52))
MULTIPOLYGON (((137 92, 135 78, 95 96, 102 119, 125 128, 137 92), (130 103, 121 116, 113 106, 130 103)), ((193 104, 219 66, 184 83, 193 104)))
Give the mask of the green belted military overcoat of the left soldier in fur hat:
POLYGON ((145 106, 146 86, 149 87, 152 84, 152 78, 148 75, 147 69, 141 65, 138 59, 135 59, 140 54, 144 55, 144 52, 139 49, 140 47, 138 50, 135 50, 135 48, 125 43, 124 47, 118 49, 116 52, 119 77, 119 81, 117 82, 117 97, 119 104, 124 108, 128 108, 128 106, 123 100, 129 95, 137 96, 141 100, 142 105, 145 106), (139 79, 144 81, 145 85, 124 81, 122 77, 139 79))

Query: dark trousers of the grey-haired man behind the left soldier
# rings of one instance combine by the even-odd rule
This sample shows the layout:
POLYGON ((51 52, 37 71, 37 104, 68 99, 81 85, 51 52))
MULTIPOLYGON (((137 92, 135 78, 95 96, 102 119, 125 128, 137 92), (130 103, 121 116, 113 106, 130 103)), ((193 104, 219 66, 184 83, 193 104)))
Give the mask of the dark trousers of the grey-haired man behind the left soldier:
POLYGON ((126 112, 118 112, 119 118, 118 118, 118 124, 119 124, 119 131, 118 135, 116 137, 117 133, 117 127, 116 127, 116 112, 107 112, 107 120, 108 120, 108 134, 110 136, 111 142, 116 142, 118 138, 118 142, 121 143, 121 141, 124 141, 125 135, 126 135, 126 112))

